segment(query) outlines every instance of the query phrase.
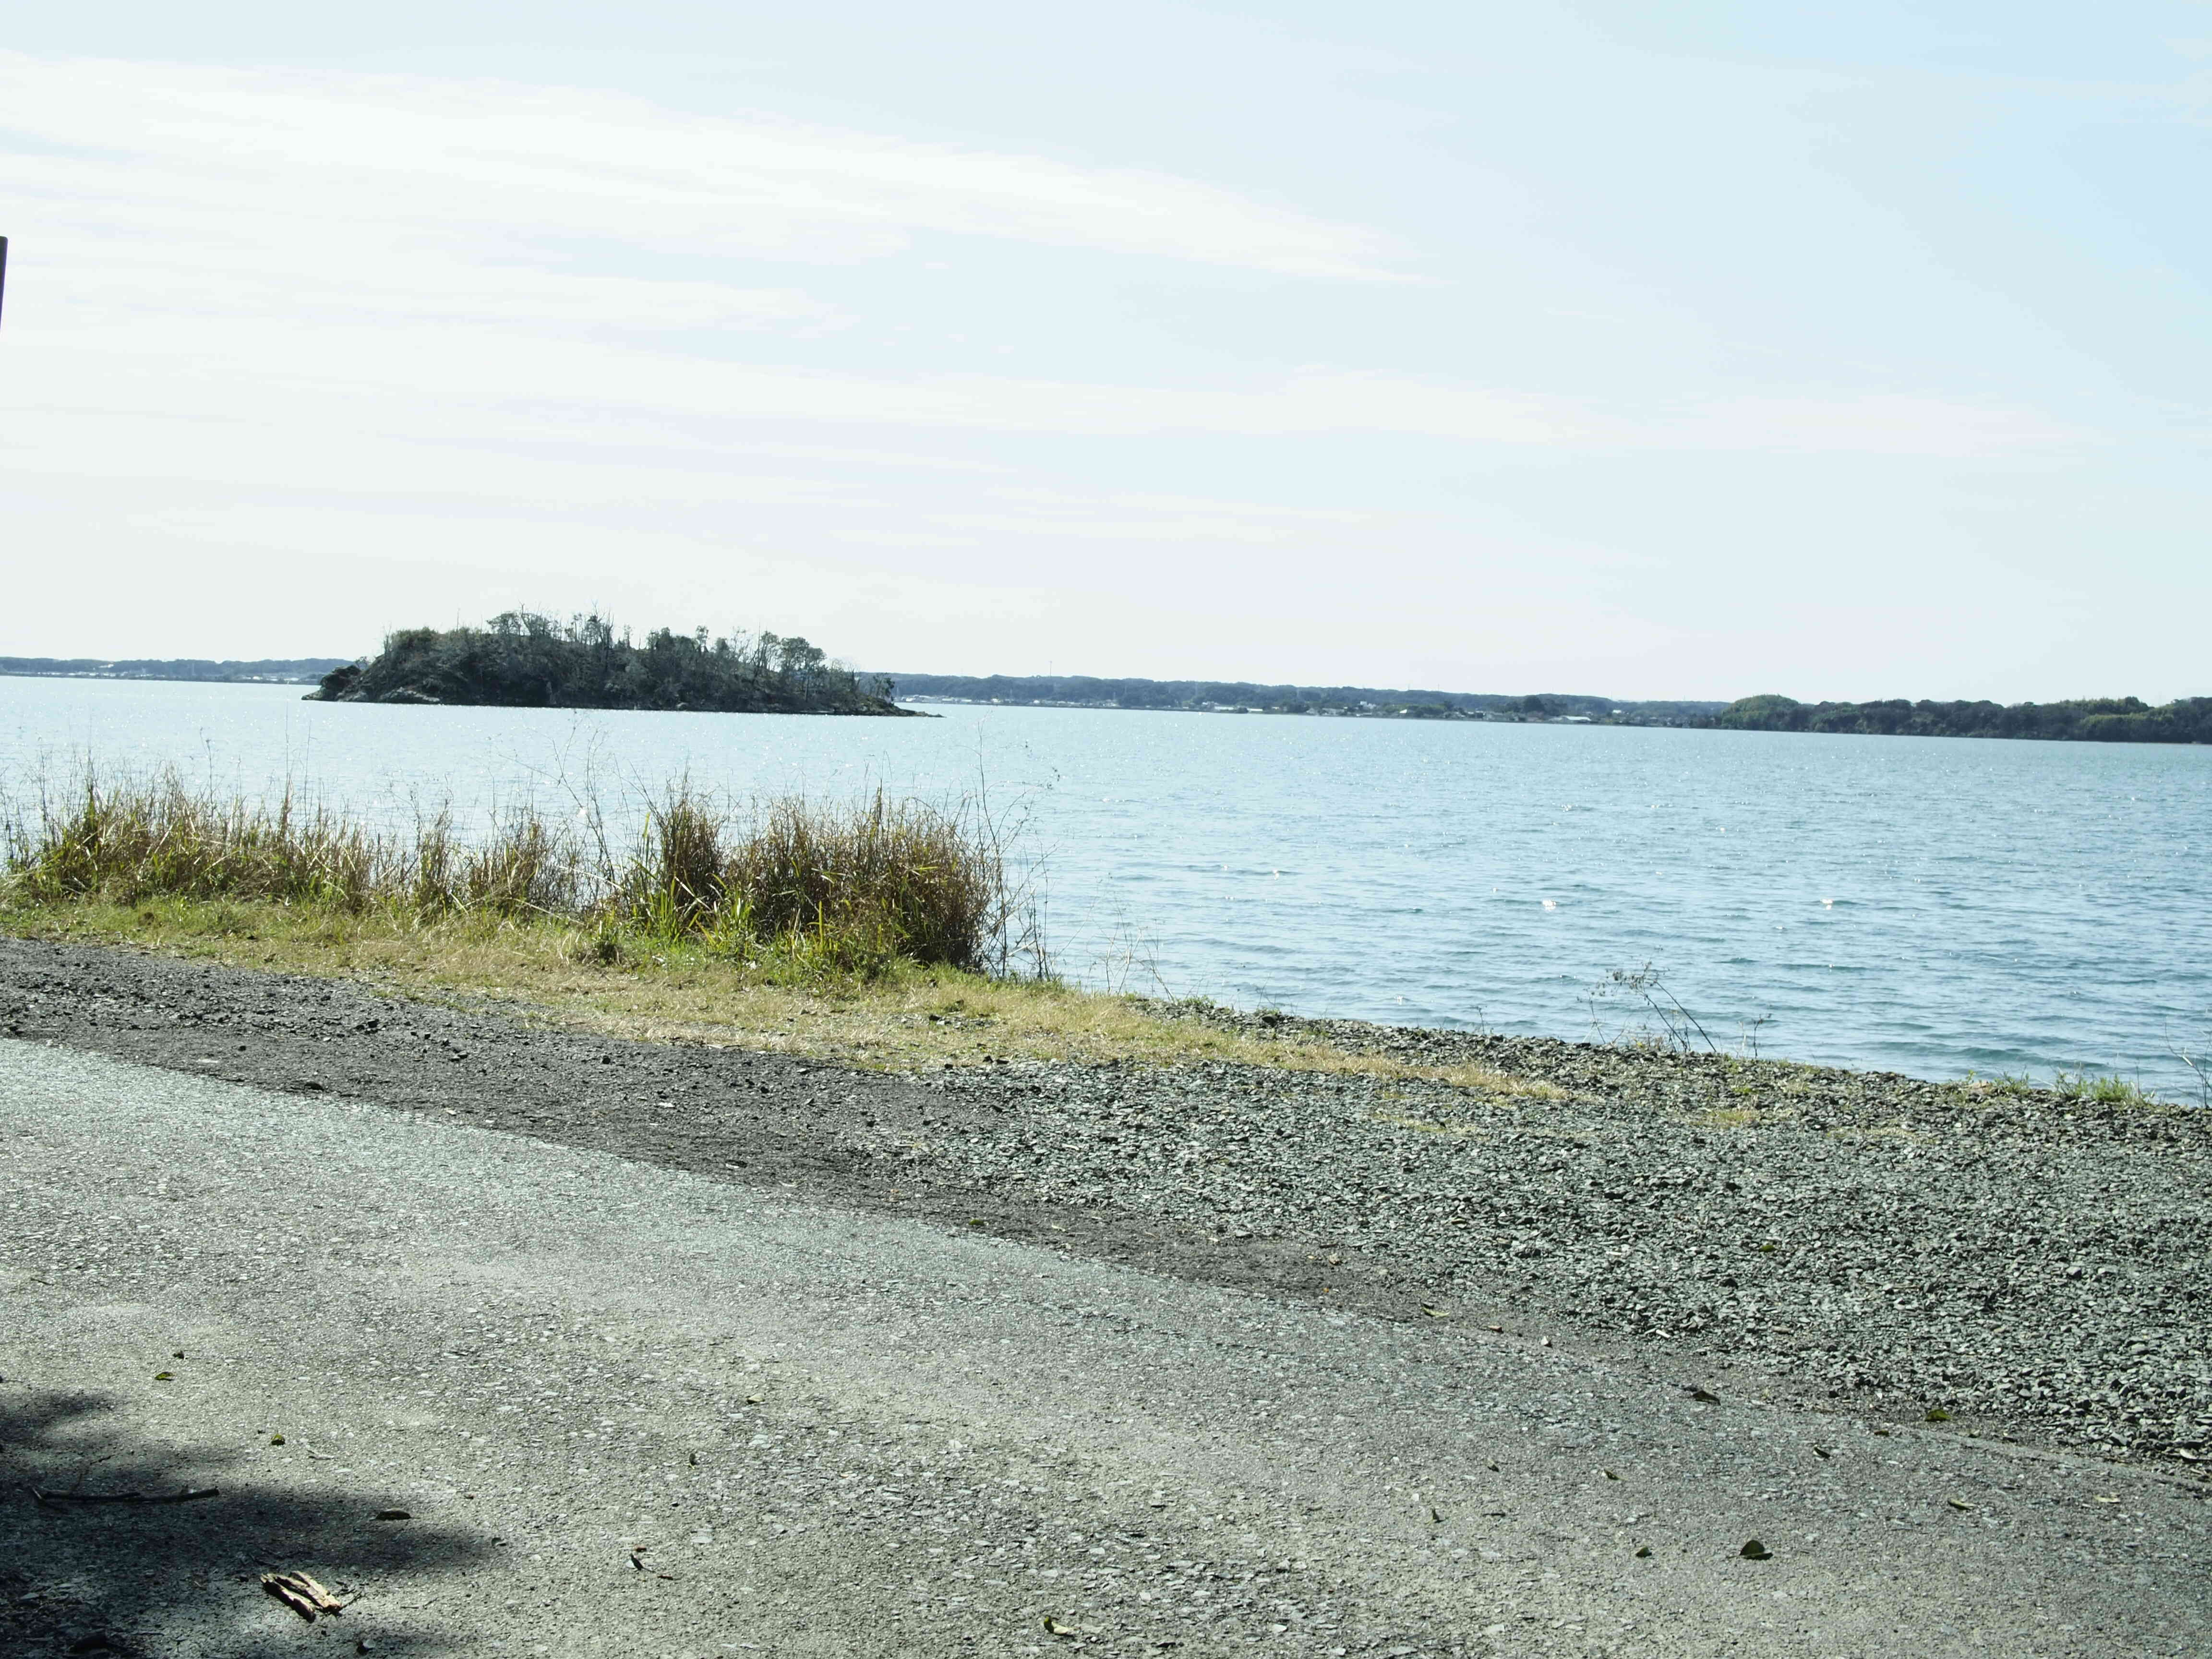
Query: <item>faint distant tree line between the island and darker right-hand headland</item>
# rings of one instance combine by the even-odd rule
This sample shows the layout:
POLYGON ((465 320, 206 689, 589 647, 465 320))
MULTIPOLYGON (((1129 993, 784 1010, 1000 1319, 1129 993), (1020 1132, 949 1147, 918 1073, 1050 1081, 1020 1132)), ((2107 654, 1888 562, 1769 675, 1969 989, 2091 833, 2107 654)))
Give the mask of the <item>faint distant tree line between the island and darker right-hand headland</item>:
POLYGON ((1637 726, 1688 726, 1723 703, 1621 703, 1610 697, 1546 692, 1387 690, 1380 686, 1261 686, 1248 679, 1097 679, 1093 675, 885 675, 894 697, 951 697, 971 703, 1057 708, 1170 708, 1263 714, 1396 714, 1400 719, 1566 719, 1637 726))

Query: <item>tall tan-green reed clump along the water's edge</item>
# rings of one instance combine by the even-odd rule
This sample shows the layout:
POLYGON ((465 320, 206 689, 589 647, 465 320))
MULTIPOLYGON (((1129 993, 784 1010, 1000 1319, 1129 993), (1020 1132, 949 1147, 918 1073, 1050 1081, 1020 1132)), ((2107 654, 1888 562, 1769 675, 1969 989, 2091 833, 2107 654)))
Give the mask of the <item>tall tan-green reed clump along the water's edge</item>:
MULTIPOLYGON (((584 836, 531 807, 469 838, 451 812, 376 834, 327 805, 192 792, 175 776, 86 774, 0 823, 0 880, 33 902, 263 900, 436 920, 549 918, 604 942, 639 936, 772 958, 803 973, 896 962, 1044 973, 1037 905, 1009 874, 978 801, 940 810, 880 790, 858 803, 785 796, 730 814, 686 783, 615 854, 591 803, 584 836)), ((613 951, 619 956, 619 945, 613 951)))

